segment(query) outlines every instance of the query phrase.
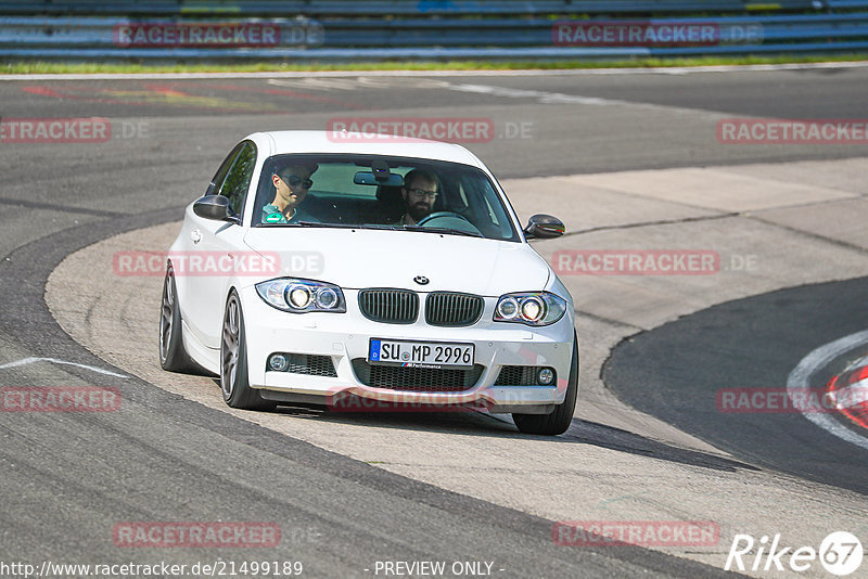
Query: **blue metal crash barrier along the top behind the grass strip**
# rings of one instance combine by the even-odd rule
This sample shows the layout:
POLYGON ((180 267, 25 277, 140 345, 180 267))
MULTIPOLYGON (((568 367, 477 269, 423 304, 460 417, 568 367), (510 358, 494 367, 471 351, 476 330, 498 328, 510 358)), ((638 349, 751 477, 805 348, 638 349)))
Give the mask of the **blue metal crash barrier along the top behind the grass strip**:
MULTIPOLYGON (((0 14, 21 2, 0 0, 0 14)), ((91 0, 52 0, 51 2, 28 3, 30 12, 50 4, 52 10, 63 11, 64 7, 76 10, 92 5, 91 0)), ((141 2, 100 3, 105 10, 117 7, 138 7, 150 16, 105 17, 105 16, 14 16, 0 15, 0 56, 44 57, 44 59, 277 59, 277 60, 383 60, 383 59, 624 59, 637 56, 695 56, 703 54, 774 54, 774 53, 827 53, 868 51, 868 0, 788 0, 777 2, 780 10, 767 11, 768 4, 753 4, 742 0, 710 0, 707 2, 656 1, 611 1, 584 2, 552 0, 539 2, 462 0, 422 1, 372 1, 347 2, 345 0, 308 0, 271 2, 204 3, 171 2, 168 0, 142 0, 141 2), (238 12, 208 18, 195 18, 196 9, 219 4, 238 12), (268 18, 254 18, 248 12, 264 10, 264 7, 280 5, 295 17, 271 15, 268 18), (570 13, 578 9, 591 13, 591 9, 605 7, 610 13, 641 12, 658 9, 660 12, 676 11, 694 13, 700 8, 724 10, 729 7, 736 14, 726 16, 669 15, 642 18, 639 16, 614 17, 598 13, 596 18, 569 20, 550 13, 563 7, 571 7, 570 13), (810 4, 821 5, 824 11, 790 14, 783 9, 796 10, 810 4), (310 14, 328 14, 340 7, 355 7, 356 12, 342 17, 323 16, 315 18, 310 14), (692 10, 687 10, 690 7, 692 10), (379 10, 410 10, 408 17, 371 17, 379 10), (763 8, 762 11, 758 9, 763 8), (242 10, 243 9, 243 10, 242 10), (365 9, 369 17, 359 15, 365 9), (547 17, 535 11, 546 9, 547 17), (149 12, 150 11, 150 12, 149 12), (166 11, 173 17, 159 16, 166 11), (451 12, 450 12, 451 11, 451 12), (472 12, 471 12, 472 11, 472 12), (486 15, 489 11, 492 14, 486 15), (499 11, 499 12, 497 12, 499 11), (524 12, 521 12, 524 11, 524 12), (156 15, 155 15, 156 14, 156 15), (179 14, 186 14, 178 20, 179 14), (305 15, 307 14, 307 15, 305 15), (432 16, 432 14, 434 14, 432 16), (445 16, 443 14, 450 14, 445 16), (475 17, 470 17, 473 14, 475 17), (509 15, 512 17, 508 17, 509 15), (522 14, 522 17, 516 17, 522 14), (641 22, 652 27, 677 27, 686 25, 707 25, 716 30, 714 42, 646 42, 644 46, 610 43, 595 46, 592 42, 563 41, 556 33, 559 22, 600 23, 641 22), (251 46, 195 43, 158 43, 151 46, 136 42, 119 42, 119 27, 142 28, 145 26, 186 27, 222 26, 227 23, 241 26, 270 26, 276 30, 276 41, 251 46), (560 46, 559 46, 560 44, 560 46)), ((135 12, 135 11, 133 11, 135 12)), ((280 12, 280 11, 279 11, 280 12)), ((281 12, 282 13, 282 12, 281 12)), ((567 39, 572 38, 567 35, 567 39)))

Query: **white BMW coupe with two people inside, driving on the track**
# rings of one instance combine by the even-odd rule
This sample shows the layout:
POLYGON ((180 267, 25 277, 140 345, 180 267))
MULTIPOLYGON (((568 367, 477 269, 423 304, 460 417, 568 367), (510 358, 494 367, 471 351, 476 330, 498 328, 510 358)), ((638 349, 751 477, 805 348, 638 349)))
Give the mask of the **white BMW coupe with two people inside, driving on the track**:
POLYGON ((456 144, 251 134, 186 210, 163 285, 165 370, 218 374, 224 399, 573 419, 573 299, 492 172, 456 144))

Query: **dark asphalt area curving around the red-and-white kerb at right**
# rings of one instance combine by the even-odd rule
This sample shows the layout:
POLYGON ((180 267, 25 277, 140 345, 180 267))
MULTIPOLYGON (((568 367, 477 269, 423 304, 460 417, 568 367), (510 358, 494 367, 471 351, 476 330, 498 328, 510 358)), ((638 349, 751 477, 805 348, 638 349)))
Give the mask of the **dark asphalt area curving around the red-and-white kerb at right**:
MULTIPOLYGON (((868 327, 867 295, 861 278, 714 306, 625 339, 603 379, 630 406, 752 464, 868 494, 868 451, 799 412, 739 411, 718 397, 737 388, 784 391, 802 358, 868 327)), ((842 352, 809 387, 821 389, 864 355, 842 352)))

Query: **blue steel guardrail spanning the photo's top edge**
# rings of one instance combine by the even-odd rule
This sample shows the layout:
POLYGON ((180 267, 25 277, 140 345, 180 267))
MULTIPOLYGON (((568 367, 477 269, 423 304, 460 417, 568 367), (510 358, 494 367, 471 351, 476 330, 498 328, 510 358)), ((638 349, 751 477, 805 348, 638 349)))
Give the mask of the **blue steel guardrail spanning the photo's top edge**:
MULTIPOLYGON (((47 2, 48 3, 48 2, 47 2)), ((66 0, 50 2, 65 7, 66 0)), ((357 9, 385 9, 414 5, 413 17, 322 17, 295 12, 295 17, 253 18, 224 16, 183 20, 75 16, 0 16, 0 56, 38 59, 277 59, 277 60, 384 60, 384 59, 624 59, 636 56, 689 56, 703 54, 770 54, 868 52, 868 0, 826 0, 778 2, 788 7, 822 4, 841 12, 809 14, 773 13, 653 18, 558 18, 484 16, 486 7, 500 10, 528 10, 539 7, 590 7, 600 2, 462 2, 418 1, 353 2, 357 9), (422 9, 454 12, 470 10, 476 17, 429 16, 422 9), (512 8, 509 8, 512 7, 512 8), (844 11, 847 10, 847 11, 844 11), (633 28, 630 28, 633 27, 633 28), (607 31, 608 30, 608 31, 607 31), (629 36, 630 30, 636 37, 629 36), (673 34, 675 31, 675 34, 673 34), (693 31, 698 36, 689 36, 693 31), (707 31, 707 34, 706 34, 707 31), (614 37, 605 38, 612 33, 614 37), (620 37, 617 35, 621 35, 620 37), (596 36, 595 36, 596 35, 596 36)), ((14 3, 0 0, 0 13, 14 3)), ((37 3, 38 5, 39 3, 37 3)), ((79 0, 77 4, 89 4, 79 0)), ((190 3, 142 2, 140 8, 168 10, 190 3)), ((245 11, 272 2, 247 2, 245 11)), ((304 5, 308 12, 323 14, 347 2, 316 0, 281 2, 304 5), (316 7, 316 9, 314 8, 316 7)), ((668 0, 605 2, 614 9, 638 10, 658 7, 681 8, 736 5, 743 13, 744 2, 672 2, 668 0)), ((765 4, 764 4, 765 5, 765 4)), ((30 4, 31 10, 34 5, 30 4)), ((289 9, 286 9, 289 10, 289 9)), ((733 9, 735 10, 735 9, 733 9)), ((167 12, 168 13, 168 12, 167 12)), ((506 14, 506 13, 505 13, 506 14)))

